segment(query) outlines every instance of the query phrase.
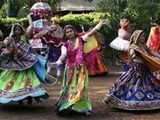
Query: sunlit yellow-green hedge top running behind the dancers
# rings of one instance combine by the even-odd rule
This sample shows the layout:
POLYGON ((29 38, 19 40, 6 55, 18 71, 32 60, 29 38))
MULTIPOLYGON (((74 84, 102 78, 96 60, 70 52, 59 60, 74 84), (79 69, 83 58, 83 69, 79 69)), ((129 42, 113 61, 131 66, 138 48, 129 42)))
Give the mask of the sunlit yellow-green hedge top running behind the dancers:
MULTIPOLYGON (((103 13, 103 12, 92 12, 88 14, 72 14, 69 13, 65 16, 60 17, 60 24, 62 26, 66 24, 73 24, 75 26, 80 26, 84 25, 84 27, 92 27, 96 25, 100 19, 102 18, 109 18, 108 13, 103 13)), ((0 18, 0 25, 8 25, 12 23, 22 23, 25 24, 27 22, 27 18, 0 18)))

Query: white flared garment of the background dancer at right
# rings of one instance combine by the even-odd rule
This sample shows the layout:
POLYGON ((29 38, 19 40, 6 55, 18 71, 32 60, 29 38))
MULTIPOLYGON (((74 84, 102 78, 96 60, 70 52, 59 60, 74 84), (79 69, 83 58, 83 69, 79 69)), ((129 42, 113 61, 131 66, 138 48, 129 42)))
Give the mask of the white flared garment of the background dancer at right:
POLYGON ((113 49, 119 50, 119 51, 128 51, 129 49, 129 41, 124 40, 120 37, 117 37, 114 39, 109 46, 113 49))

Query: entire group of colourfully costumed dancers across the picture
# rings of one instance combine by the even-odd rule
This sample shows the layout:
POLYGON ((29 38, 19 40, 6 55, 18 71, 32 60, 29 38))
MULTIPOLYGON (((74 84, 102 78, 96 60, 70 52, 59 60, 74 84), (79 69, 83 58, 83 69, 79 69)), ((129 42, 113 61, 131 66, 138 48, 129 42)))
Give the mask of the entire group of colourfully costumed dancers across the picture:
MULTIPOLYGON (((43 85, 52 83, 47 76, 52 75, 51 69, 56 65, 57 79, 61 79, 63 71, 56 111, 89 115, 92 104, 88 96, 88 74, 107 72, 95 33, 109 22, 101 20, 91 30, 77 34, 72 25, 65 25, 62 30, 56 19, 50 23, 50 14, 47 3, 37 2, 28 15, 26 35, 29 40, 21 40, 25 30, 20 24, 12 25, 9 36, 1 40, 0 103, 23 104, 27 101, 31 104, 47 99, 49 95, 43 85)), ((160 27, 152 28, 147 43, 146 40, 144 31, 131 33, 129 20, 120 20, 118 37, 110 46, 120 51, 127 70, 107 92, 104 101, 111 107, 125 110, 160 108, 160 27)))

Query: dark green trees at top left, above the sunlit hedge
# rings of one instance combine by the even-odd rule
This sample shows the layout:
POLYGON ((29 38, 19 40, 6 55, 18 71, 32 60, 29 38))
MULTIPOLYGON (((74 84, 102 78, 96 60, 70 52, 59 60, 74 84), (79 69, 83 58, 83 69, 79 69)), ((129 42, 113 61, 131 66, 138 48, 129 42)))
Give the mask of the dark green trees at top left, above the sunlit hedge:
MULTIPOLYGON (((0 0, 1 1, 1 0, 0 0)), ((23 18, 29 13, 30 7, 35 3, 34 0, 4 0, 0 5, 0 16, 23 18)), ((53 11, 57 9, 59 0, 48 0, 53 11)))

